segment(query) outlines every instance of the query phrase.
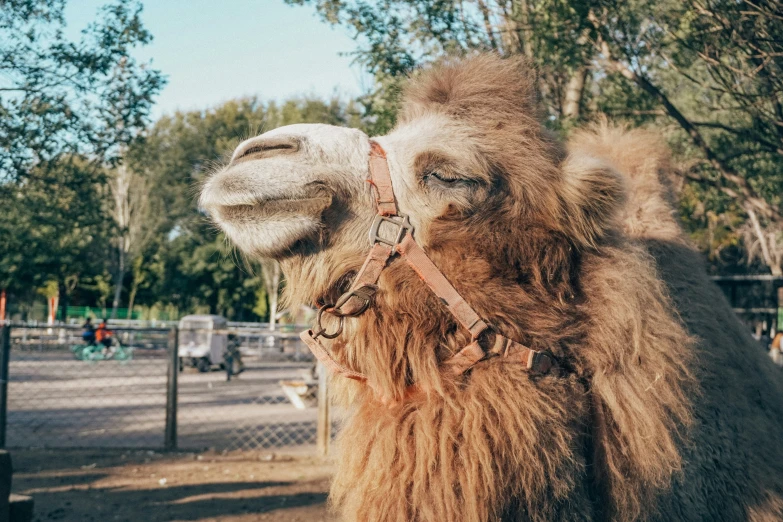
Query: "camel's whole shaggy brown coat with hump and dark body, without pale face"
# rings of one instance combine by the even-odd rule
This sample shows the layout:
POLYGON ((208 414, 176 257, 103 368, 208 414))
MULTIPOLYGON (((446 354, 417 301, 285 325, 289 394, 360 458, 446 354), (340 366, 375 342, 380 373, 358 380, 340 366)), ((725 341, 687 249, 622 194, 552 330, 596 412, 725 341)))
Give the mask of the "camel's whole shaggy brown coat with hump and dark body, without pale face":
MULTIPOLYGON (((334 380, 351 408, 335 508, 362 521, 778 520, 780 379, 672 217, 665 147, 603 127, 566 149, 533 85, 520 61, 447 63, 411 82, 399 125, 444 115, 479 143, 489 197, 428 224, 427 252, 488 323, 566 373, 493 359, 444 376, 468 338, 394 260, 332 346, 398 401, 334 380), (405 401, 413 383, 425 394, 405 401)), ((339 292, 327 274, 361 261, 287 259, 292 299, 339 292)))

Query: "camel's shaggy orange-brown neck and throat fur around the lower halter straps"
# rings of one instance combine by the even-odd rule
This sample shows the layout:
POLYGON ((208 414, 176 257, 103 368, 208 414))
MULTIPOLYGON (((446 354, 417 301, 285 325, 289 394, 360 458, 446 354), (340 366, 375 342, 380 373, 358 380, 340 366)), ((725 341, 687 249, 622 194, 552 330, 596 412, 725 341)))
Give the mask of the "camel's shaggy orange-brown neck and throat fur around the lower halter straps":
MULTIPOLYGON (((577 310, 576 261, 567 245, 509 246, 492 256, 445 251, 428 248, 462 297, 503 335, 561 360, 581 341, 587 321, 577 310), (533 248, 543 250, 523 255, 533 248)), ((332 388, 360 394, 340 435, 332 486, 346 520, 590 518, 582 385, 573 375, 531 379, 498 359, 449 377, 442 361, 469 340, 400 259, 383 272, 373 306, 346 322, 332 350, 374 388, 347 379, 332 388), (406 397, 412 384, 424 394, 406 397)))

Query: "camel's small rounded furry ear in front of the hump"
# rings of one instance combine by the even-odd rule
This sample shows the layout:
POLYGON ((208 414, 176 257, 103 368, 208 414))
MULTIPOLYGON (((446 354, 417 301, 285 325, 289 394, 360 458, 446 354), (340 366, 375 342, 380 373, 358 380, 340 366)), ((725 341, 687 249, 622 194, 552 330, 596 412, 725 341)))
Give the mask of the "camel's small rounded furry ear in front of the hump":
POLYGON ((625 199, 623 178, 608 163, 572 152, 562 164, 563 231, 583 246, 594 246, 616 222, 625 199))

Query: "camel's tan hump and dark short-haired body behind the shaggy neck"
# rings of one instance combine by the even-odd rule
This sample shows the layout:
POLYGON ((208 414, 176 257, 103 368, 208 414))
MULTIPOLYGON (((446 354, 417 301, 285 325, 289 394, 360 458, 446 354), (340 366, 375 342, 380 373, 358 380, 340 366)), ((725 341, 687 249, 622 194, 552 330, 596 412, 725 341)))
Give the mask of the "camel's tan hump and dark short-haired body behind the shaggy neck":
POLYGON ((641 131, 594 129, 572 148, 611 158, 628 176, 623 229, 654 257, 675 310, 699 346, 700 394, 678 445, 682 472, 657 499, 660 520, 783 520, 783 381, 707 280, 668 204, 669 154, 641 131))

